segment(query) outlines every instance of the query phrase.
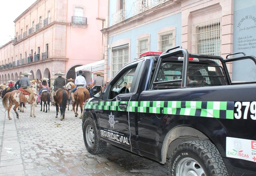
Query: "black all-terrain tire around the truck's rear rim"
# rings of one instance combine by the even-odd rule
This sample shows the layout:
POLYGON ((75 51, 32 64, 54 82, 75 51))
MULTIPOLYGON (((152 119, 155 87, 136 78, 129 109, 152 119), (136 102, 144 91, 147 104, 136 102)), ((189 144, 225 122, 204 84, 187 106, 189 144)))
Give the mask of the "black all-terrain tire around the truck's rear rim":
POLYGON ((178 145, 169 159, 168 175, 176 176, 177 169, 182 168, 180 161, 186 160, 184 158, 195 160, 198 163, 197 168, 202 167, 205 176, 228 176, 218 149, 209 140, 189 141, 178 145))

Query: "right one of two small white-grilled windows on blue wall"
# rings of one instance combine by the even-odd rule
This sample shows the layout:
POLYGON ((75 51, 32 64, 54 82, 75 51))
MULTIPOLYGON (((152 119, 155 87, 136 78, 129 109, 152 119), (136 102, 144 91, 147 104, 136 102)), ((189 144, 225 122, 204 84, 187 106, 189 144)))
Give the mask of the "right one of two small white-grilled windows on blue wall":
POLYGON ((157 51, 166 52, 166 50, 173 48, 175 44, 175 29, 164 32, 159 32, 157 37, 157 51))

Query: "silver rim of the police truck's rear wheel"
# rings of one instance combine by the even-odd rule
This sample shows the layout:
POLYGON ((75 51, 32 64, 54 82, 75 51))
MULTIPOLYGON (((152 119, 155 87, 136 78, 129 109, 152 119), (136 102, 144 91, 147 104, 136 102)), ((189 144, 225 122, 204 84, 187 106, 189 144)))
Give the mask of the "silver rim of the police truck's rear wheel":
POLYGON ((193 158, 183 158, 177 164, 176 175, 179 176, 206 176, 202 166, 193 158))

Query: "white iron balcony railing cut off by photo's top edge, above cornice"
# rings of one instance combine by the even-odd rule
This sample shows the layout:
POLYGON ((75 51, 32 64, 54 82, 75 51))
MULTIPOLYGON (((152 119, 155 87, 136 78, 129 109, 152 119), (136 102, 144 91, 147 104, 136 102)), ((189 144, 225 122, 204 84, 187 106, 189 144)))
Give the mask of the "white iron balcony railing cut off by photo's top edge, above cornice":
POLYGON ((133 3, 133 15, 137 15, 169 0, 137 0, 133 3))

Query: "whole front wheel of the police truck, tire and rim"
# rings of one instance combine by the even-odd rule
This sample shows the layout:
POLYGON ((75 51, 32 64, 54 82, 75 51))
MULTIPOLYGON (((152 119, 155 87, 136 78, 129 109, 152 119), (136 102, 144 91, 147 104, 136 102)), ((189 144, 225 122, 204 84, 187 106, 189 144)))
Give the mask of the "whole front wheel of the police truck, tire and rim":
POLYGON ((100 154, 106 150, 107 143, 100 140, 100 131, 97 130, 94 120, 87 118, 83 128, 84 144, 91 154, 100 154))

